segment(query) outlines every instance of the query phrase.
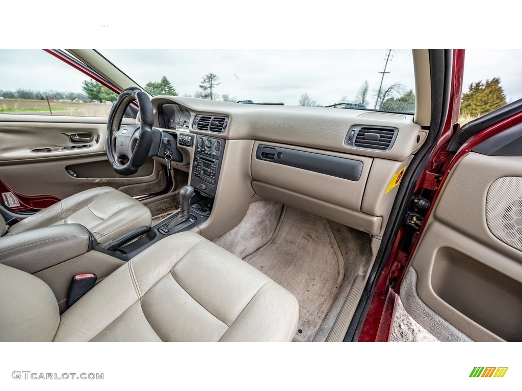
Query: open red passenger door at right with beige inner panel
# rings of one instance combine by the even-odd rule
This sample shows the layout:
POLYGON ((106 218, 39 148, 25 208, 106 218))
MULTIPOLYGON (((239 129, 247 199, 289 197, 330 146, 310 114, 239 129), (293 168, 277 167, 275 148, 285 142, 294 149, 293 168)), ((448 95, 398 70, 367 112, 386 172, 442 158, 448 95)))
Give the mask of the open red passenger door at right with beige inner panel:
POLYGON ((458 153, 400 288, 437 339, 522 340, 521 113, 513 102, 448 145, 458 153))

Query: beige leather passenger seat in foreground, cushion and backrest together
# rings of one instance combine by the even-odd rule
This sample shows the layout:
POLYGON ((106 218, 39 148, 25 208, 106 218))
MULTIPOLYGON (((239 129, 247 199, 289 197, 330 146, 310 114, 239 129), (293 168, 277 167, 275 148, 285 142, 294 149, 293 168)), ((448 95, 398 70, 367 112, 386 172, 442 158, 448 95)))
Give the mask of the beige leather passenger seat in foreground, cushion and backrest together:
POLYGON ((195 233, 162 239, 60 317, 42 280, 0 264, 2 341, 290 341, 295 297, 195 233))

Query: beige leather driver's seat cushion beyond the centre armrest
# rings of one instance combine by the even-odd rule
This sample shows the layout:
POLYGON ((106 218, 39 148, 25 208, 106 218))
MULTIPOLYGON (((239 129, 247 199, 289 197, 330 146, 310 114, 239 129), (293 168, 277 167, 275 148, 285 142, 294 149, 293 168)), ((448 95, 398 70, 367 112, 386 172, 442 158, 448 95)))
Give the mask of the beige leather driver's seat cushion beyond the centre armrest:
MULTIPOLYGON (((78 223, 101 243, 142 225, 150 225, 149 209, 112 187, 98 187, 68 197, 11 226, 7 235, 56 224, 78 223)), ((2 227, 0 227, 1 229, 2 227)))

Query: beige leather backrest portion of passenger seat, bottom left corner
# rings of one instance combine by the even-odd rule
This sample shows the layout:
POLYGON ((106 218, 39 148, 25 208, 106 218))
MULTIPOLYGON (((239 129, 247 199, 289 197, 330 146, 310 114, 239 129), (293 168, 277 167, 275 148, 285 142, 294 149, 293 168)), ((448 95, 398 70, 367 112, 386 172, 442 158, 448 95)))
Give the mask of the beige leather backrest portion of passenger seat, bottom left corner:
POLYGON ((0 264, 0 341, 52 341, 60 313, 51 288, 40 278, 0 264))

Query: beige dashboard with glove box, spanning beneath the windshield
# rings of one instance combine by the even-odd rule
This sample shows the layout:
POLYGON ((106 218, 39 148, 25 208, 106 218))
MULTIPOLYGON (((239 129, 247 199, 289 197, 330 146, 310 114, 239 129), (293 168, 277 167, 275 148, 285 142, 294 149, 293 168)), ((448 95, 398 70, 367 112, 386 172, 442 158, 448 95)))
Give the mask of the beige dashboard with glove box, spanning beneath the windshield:
MULTIPOLYGON (((380 238, 397 192, 397 186, 389 188, 390 182, 400 182, 400 172, 428 134, 410 115, 177 96, 152 100, 155 126, 160 128, 164 127, 161 104, 177 104, 191 114, 187 128, 169 131, 226 140, 213 212, 200 226, 209 239, 239 224, 248 204, 258 198, 380 238), (226 128, 221 132, 194 128, 201 115, 227 118, 226 128), (263 155, 262 150, 268 153, 263 155)), ((175 166, 192 173, 195 148, 178 145, 183 161, 175 166)))

